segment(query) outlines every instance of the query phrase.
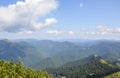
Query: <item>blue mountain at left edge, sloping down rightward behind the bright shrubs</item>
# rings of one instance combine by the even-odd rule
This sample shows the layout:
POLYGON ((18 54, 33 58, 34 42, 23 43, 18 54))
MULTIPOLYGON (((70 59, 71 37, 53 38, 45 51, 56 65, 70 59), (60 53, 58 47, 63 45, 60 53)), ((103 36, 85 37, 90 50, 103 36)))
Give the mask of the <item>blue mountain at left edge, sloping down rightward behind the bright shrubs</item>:
POLYGON ((0 59, 14 61, 22 60, 25 65, 29 66, 37 63, 38 59, 42 60, 49 55, 40 51, 35 46, 27 42, 15 42, 8 39, 0 40, 0 59), (34 63, 33 63, 34 61, 34 63), (32 63, 32 64, 31 64, 32 63))

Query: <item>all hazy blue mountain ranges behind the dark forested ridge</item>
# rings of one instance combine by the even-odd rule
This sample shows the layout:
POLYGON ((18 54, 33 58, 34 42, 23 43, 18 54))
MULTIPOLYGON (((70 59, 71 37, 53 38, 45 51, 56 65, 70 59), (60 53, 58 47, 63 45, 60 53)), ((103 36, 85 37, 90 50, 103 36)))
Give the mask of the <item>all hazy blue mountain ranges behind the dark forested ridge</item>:
POLYGON ((119 47, 119 41, 79 41, 78 45, 74 41, 3 39, 0 40, 0 59, 21 60, 24 65, 32 68, 59 67, 77 60, 84 64, 82 59, 93 54, 112 62, 120 62, 119 47))

